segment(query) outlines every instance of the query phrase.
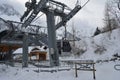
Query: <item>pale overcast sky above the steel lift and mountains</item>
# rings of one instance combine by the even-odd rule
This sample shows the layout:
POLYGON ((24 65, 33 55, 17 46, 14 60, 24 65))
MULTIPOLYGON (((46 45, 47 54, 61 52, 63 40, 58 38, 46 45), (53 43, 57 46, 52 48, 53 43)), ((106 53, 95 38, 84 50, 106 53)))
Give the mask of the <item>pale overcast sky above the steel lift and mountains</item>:
MULTIPOLYGON (((5 2, 6 0, 0 0, 1 2, 5 2)), ((23 14, 25 11, 24 4, 29 0, 7 0, 11 3, 16 9, 23 14)), ((39 1, 39 0, 37 0, 39 1)), ((71 8, 73 8, 76 4, 77 0, 56 0, 62 3, 67 4, 71 8)), ((81 0, 81 5, 83 5, 87 0, 81 0)), ((80 10, 74 18, 72 18, 72 22, 77 28, 85 28, 89 30, 89 28, 103 27, 103 18, 104 18, 104 7, 105 2, 107 0, 90 0, 90 2, 80 10)), ((68 22, 68 24, 71 23, 68 22)), ((86 33, 86 31, 85 31, 86 33)))

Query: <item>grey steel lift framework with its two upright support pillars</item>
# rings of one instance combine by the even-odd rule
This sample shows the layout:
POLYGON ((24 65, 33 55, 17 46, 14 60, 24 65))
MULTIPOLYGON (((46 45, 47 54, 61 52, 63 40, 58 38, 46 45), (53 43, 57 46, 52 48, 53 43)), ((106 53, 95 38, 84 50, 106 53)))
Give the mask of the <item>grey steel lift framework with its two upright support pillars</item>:
POLYGON ((57 2, 54 0, 40 0, 38 3, 36 2, 36 0, 31 0, 31 2, 26 2, 25 6, 27 10, 20 19, 21 21, 23 21, 23 23, 21 27, 18 29, 18 31, 14 31, 16 33, 13 36, 16 37, 17 35, 21 37, 22 35, 23 37, 22 38, 23 67, 28 66, 28 45, 30 44, 30 41, 34 41, 36 43, 39 42, 40 44, 44 43, 44 40, 42 42, 43 38, 41 38, 40 34, 42 34, 42 36, 43 35, 46 36, 46 35, 44 33, 39 33, 40 27, 30 26, 30 24, 37 17, 39 12, 43 12, 44 14, 46 14, 46 18, 47 18, 50 65, 59 66, 59 54, 56 45, 56 30, 59 29, 61 26, 65 26, 67 21, 69 21, 88 2, 89 0, 83 6, 76 5, 73 9, 70 9, 64 3, 57 2), (66 10, 68 11, 68 13, 65 12, 66 10), (59 16, 61 18, 61 21, 57 24, 55 24, 55 18, 54 18, 55 16, 59 16), (34 36, 29 36, 29 35, 34 35, 34 36))

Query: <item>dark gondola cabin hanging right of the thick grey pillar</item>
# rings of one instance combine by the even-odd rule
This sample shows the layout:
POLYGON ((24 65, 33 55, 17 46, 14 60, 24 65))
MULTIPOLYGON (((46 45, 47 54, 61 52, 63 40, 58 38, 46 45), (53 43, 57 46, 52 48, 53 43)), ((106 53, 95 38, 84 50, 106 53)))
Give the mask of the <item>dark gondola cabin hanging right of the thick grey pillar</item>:
POLYGON ((57 48, 58 48, 59 54, 61 54, 61 50, 63 52, 71 51, 70 42, 68 40, 57 40, 57 48))

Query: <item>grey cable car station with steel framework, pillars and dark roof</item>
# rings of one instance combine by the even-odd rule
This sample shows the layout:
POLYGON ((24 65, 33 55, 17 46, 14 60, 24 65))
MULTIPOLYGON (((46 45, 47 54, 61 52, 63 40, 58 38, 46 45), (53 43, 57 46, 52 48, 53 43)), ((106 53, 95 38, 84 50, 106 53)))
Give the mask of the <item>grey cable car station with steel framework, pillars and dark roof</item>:
POLYGON ((21 22, 3 20, 4 23, 12 27, 0 33, 1 35, 6 34, 7 36, 9 34, 9 37, 0 37, 0 47, 3 44, 9 44, 9 46, 11 46, 11 44, 17 45, 10 49, 12 51, 14 48, 23 47, 22 66, 28 67, 28 46, 33 45, 33 43, 35 46, 45 45, 49 48, 50 66, 59 66, 59 54, 61 53, 61 49, 63 51, 70 51, 71 47, 64 47, 66 45, 70 46, 67 40, 63 40, 63 45, 61 46, 61 42, 56 40, 56 30, 65 26, 77 12, 88 3, 88 1, 83 6, 79 4, 76 5, 73 9, 70 9, 64 3, 54 0, 40 0, 39 2, 31 0, 30 2, 26 2, 26 11, 20 18, 21 22), (69 13, 66 13, 65 10, 69 13), (48 35, 39 32, 42 26, 31 25, 32 21, 40 12, 46 15, 48 35), (61 21, 57 24, 55 24, 55 16, 61 18, 61 21), (16 24, 19 26, 16 27, 16 24), (10 37, 10 35, 12 37, 10 37))

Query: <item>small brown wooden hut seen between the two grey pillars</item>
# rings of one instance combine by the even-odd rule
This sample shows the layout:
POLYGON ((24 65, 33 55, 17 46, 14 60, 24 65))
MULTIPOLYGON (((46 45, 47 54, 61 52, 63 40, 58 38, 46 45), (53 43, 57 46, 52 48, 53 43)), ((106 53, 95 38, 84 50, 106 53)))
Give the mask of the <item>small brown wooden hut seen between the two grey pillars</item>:
POLYGON ((34 61, 44 61, 47 59, 47 52, 40 51, 38 48, 33 48, 29 54, 30 60, 34 61))

